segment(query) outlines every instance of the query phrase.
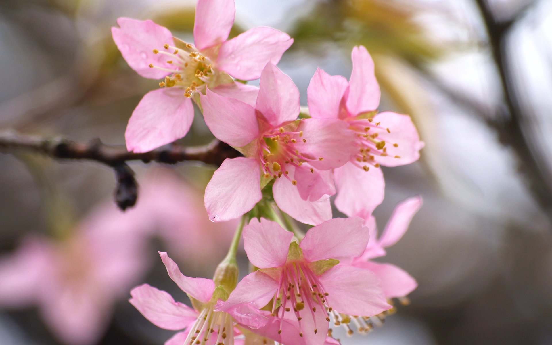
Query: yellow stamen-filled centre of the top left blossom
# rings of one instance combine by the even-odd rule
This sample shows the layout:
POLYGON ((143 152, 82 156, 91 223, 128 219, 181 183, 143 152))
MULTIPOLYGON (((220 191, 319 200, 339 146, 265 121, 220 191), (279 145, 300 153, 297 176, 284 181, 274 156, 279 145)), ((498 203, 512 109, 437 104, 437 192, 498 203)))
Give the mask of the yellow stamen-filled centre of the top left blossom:
POLYGON ((211 60, 189 43, 183 43, 181 47, 165 44, 160 49, 153 49, 153 54, 166 56, 165 62, 174 66, 171 69, 150 63, 150 68, 172 73, 159 86, 181 88, 186 97, 192 97, 195 92, 204 92, 215 73, 211 60))

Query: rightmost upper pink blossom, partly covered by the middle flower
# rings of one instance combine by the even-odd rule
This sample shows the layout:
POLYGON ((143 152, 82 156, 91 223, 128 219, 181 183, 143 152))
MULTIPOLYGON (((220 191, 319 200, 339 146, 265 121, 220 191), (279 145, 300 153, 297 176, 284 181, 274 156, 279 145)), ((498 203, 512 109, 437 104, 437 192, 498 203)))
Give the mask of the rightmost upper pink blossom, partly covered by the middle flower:
POLYGON ((335 204, 348 216, 367 218, 383 201, 385 184, 380 165, 415 162, 424 144, 410 116, 376 114, 380 89, 366 48, 354 47, 352 60, 349 81, 318 69, 307 89, 307 99, 312 118, 341 119, 355 131, 357 154, 335 170, 335 204))

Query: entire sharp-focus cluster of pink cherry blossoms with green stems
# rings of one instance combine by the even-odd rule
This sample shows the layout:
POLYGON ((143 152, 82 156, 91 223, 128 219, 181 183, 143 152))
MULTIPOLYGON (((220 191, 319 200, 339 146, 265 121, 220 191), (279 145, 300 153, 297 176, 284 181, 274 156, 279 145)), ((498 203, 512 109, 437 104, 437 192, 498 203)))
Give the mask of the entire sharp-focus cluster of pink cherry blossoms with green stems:
POLYGON ((367 333, 417 283, 374 262, 406 231, 422 200, 397 206, 378 236, 373 210, 384 198, 381 166, 420 157, 410 116, 378 113, 380 88, 364 46, 352 51, 347 80, 317 70, 299 90, 276 66, 293 39, 266 27, 228 39, 233 0, 199 0, 194 43, 151 20, 120 18, 113 39, 140 76, 161 79, 126 129, 130 151, 146 152, 187 134, 193 103, 213 135, 242 153, 225 160, 205 189, 214 222, 241 219, 214 279, 183 275, 160 252, 189 307, 148 284, 130 302, 148 320, 178 330, 166 345, 336 344, 330 324, 367 333), (259 87, 245 81, 259 79, 259 87), (347 218, 333 218, 331 199, 347 218), (306 233, 302 232, 310 225, 306 233), (238 282, 243 238, 252 272, 238 282))

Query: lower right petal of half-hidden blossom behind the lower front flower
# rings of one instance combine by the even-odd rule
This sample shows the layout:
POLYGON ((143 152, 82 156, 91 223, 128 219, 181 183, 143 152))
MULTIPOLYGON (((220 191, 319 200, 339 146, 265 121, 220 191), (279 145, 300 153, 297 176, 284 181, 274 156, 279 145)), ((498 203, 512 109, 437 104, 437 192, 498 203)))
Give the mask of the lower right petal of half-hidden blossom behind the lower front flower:
POLYGON ((368 261, 354 266, 369 269, 381 281, 381 288, 386 298, 403 297, 417 288, 416 279, 405 270, 389 263, 368 261))

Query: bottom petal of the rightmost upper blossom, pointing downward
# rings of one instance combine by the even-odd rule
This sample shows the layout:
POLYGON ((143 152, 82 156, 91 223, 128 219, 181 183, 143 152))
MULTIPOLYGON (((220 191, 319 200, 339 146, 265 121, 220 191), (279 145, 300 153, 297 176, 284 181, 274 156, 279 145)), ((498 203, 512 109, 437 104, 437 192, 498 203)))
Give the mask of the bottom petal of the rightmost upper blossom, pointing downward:
POLYGON ((367 219, 381 204, 385 181, 380 168, 369 166, 369 171, 349 162, 333 172, 337 187, 336 208, 348 216, 367 219))

